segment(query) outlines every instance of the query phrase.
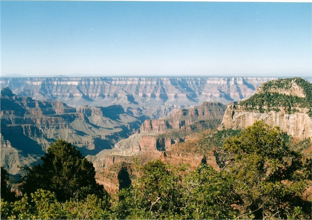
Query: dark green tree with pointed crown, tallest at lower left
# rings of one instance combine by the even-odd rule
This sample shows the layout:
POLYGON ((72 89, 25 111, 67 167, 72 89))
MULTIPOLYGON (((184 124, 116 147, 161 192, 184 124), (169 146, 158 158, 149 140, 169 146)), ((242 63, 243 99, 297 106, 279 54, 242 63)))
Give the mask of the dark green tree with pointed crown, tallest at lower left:
POLYGON ((107 195, 103 186, 95 181, 95 169, 71 143, 57 140, 41 157, 43 163, 26 169, 21 178, 23 193, 37 189, 54 192, 59 201, 69 200, 74 195, 85 198, 87 194, 107 195))

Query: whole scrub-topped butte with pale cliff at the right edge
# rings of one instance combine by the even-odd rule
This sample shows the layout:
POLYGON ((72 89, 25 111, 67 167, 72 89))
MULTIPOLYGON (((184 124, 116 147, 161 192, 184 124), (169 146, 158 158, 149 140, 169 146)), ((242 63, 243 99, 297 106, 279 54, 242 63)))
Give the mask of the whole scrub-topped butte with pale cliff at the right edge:
POLYGON ((312 137, 311 83, 298 78, 280 79, 261 85, 246 101, 228 105, 222 127, 245 129, 257 120, 295 138, 312 137))

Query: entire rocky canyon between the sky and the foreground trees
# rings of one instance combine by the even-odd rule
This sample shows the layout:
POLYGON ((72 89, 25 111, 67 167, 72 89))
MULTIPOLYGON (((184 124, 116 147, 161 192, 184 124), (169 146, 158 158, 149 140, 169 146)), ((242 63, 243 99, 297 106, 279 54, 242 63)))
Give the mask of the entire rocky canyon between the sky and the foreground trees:
POLYGON ((305 103, 311 94, 302 87, 310 84, 289 80, 276 86, 275 78, 251 77, 1 78, 1 166, 17 175, 18 166, 38 163, 62 138, 92 161, 110 193, 118 190, 121 170, 131 176, 134 157, 192 167, 205 160, 218 170, 212 149, 197 152, 198 141, 217 128, 245 129, 264 120, 295 138, 312 136, 305 103), (304 105, 250 101, 276 94, 304 105))

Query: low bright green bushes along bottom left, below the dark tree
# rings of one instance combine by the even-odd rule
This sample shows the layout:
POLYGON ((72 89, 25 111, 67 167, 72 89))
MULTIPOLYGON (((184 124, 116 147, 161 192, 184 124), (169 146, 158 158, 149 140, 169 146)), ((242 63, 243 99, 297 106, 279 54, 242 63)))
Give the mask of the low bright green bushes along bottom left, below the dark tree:
POLYGON ((61 203, 55 193, 39 189, 30 196, 16 202, 1 199, 2 219, 108 219, 110 209, 108 198, 87 195, 84 199, 77 196, 61 203))

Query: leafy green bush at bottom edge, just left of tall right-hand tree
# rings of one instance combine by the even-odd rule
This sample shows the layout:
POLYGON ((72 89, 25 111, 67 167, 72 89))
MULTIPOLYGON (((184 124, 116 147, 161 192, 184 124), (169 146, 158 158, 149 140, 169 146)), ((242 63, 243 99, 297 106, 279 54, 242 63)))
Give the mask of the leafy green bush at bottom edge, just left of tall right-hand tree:
POLYGON ((222 176, 211 166, 200 165, 183 180, 179 190, 183 219, 227 219, 237 214, 233 208, 237 201, 233 179, 222 176))

